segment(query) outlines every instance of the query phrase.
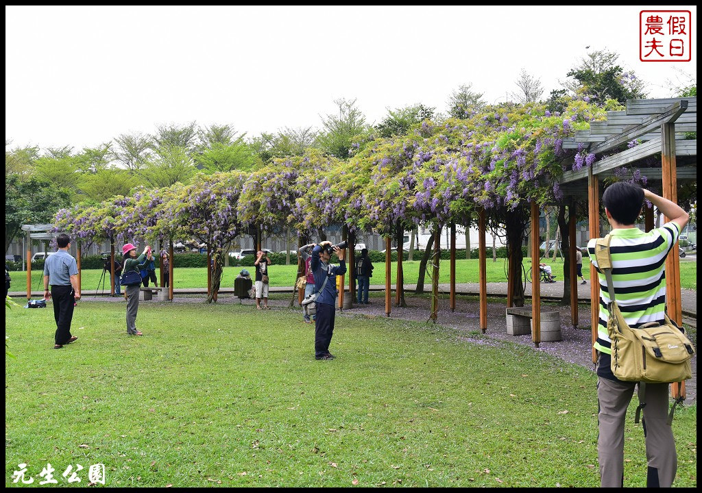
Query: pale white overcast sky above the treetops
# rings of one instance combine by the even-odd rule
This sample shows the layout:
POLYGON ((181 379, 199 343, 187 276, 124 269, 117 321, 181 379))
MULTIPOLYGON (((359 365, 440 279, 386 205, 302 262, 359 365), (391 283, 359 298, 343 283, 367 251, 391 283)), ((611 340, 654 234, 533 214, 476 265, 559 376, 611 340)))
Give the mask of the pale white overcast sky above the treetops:
POLYGON ((319 128, 340 97, 377 123, 445 112, 461 84, 503 102, 522 68, 548 95, 588 46, 670 97, 696 79, 696 7, 650 7, 692 13, 692 60, 673 63, 640 62, 644 8, 6 6, 6 140, 78 151, 190 121, 253 137, 319 128))

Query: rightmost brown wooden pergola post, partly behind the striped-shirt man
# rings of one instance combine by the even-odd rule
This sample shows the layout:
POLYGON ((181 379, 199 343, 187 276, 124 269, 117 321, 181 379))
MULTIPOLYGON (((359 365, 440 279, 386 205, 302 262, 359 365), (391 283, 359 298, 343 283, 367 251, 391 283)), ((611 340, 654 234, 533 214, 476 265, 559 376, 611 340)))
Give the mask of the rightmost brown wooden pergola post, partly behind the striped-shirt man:
MULTIPOLYGON (((675 160, 675 123, 663 123, 661 166, 663 168, 663 198, 677 204, 677 162, 675 160)), ((653 212, 651 211, 651 217, 653 212)), ((664 217, 665 222, 670 217, 664 217)), ((652 223, 653 221, 651 221, 652 223)), ((682 326, 682 292, 680 285, 680 255, 677 255, 678 242, 675 242, 668 257, 665 257, 665 302, 668 316, 682 326)), ((685 396, 685 382, 680 388, 672 386, 673 398, 685 396)))

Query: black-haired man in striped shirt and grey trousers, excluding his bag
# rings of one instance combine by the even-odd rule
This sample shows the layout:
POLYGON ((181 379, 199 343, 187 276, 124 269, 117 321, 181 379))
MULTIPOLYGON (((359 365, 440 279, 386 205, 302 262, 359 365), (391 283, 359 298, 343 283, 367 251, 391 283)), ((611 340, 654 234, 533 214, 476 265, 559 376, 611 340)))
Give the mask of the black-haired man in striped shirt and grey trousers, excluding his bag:
MULTIPOLYGON (((611 224, 609 251, 617 304, 630 327, 647 322, 663 325, 665 311, 665 257, 677 243, 677 237, 689 220, 677 204, 641 187, 617 182, 604 191, 604 212, 611 224), (670 221, 663 227, 644 233, 635 226, 644 198, 670 221)), ((611 372, 611 342, 607 335, 609 293, 604 272, 595 258, 595 241, 590 240, 590 262, 600 281, 600 322, 597 327, 597 414, 600 433, 597 456, 603 487, 623 487, 624 419, 636 382, 621 381, 611 372)), ((644 436, 648 461, 647 486, 670 487, 677 471, 677 453, 668 418, 668 384, 647 384, 644 412, 644 436)))

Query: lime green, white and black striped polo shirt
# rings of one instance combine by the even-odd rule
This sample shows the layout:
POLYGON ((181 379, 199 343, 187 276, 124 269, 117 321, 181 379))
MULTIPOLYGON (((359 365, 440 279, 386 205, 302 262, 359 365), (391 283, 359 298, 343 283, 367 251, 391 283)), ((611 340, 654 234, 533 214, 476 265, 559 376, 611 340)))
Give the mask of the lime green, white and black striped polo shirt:
MULTIPOLYGON (((663 227, 648 233, 630 228, 614 229, 609 234, 616 302, 630 327, 665 320, 665 257, 668 257, 678 235, 680 230, 675 222, 663 224, 663 227)), ((595 349, 611 354, 611 341, 607 335, 607 305, 611 300, 607 279, 597 266, 595 241, 592 239, 588 243, 590 262, 597 269, 600 280, 600 321, 595 349)))

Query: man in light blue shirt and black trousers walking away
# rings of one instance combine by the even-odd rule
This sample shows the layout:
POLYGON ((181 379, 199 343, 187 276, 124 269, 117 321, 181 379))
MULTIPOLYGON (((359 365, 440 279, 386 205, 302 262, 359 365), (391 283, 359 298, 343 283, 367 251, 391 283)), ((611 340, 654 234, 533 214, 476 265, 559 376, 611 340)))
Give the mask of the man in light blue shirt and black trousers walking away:
POLYGON ((78 285, 78 266, 68 249, 71 238, 60 234, 56 238, 58 251, 44 261, 44 298, 53 299, 53 316, 56 320, 56 335, 53 349, 61 349, 64 344, 74 342, 78 337, 71 335, 74 302, 81 298, 78 285), (51 292, 48 286, 51 285, 51 292))

